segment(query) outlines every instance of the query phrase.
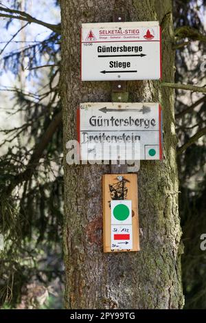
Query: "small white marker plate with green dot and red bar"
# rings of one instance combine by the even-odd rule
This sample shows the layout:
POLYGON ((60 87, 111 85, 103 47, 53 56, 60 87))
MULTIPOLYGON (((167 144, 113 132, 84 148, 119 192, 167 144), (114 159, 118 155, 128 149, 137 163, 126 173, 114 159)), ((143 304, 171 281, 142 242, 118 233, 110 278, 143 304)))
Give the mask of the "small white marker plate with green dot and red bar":
POLYGON ((111 201, 111 249, 133 249, 132 201, 111 201))

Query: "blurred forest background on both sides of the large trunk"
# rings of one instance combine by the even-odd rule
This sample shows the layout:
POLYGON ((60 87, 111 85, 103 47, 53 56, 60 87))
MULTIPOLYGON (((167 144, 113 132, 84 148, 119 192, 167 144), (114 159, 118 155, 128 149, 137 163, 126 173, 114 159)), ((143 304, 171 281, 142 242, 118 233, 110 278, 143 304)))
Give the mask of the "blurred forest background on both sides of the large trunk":
MULTIPOLYGON (((206 36, 179 27, 205 35, 206 1, 172 3, 175 82, 205 87, 206 36)), ((63 307, 60 8, 38 4, 0 1, 1 308, 63 307)), ((190 143, 178 149, 185 309, 206 309, 205 94, 176 90, 175 113, 178 147, 190 143)))

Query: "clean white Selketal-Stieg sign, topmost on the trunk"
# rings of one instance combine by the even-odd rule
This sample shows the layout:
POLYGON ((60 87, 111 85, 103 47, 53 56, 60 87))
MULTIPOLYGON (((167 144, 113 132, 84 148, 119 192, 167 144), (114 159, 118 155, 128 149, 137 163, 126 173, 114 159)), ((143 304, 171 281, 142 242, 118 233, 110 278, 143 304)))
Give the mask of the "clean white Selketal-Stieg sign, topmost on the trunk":
POLYGON ((83 23, 81 35, 83 81, 161 78, 158 21, 83 23))

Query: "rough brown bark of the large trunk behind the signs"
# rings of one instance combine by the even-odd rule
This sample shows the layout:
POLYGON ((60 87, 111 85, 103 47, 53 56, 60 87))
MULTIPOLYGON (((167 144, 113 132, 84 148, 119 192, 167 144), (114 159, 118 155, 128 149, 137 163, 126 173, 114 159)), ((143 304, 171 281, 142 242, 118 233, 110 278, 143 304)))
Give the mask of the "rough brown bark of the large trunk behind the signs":
MULTIPOLYGON (((170 0, 61 0, 64 146, 76 138, 80 102, 111 101, 110 82, 80 82, 80 26, 112 21, 159 20, 163 29, 163 81, 174 82, 170 0)), ((92 68, 92 67, 91 67, 92 68)), ((164 159, 142 161, 138 172, 141 251, 103 254, 102 175, 108 166, 65 161, 65 304, 68 309, 180 309, 183 307, 179 242, 174 91, 159 81, 128 82, 130 102, 161 102, 164 159)), ((66 156, 65 149, 65 156, 66 156)))

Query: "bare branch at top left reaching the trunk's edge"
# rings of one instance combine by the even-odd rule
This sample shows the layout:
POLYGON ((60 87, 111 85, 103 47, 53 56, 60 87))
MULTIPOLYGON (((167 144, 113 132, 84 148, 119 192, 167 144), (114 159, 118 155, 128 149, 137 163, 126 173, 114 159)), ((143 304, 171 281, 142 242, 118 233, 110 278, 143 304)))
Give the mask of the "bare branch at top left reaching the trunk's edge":
POLYGON ((60 34, 60 24, 58 25, 52 25, 52 23, 45 23, 44 21, 38 20, 34 18, 33 16, 30 16, 30 14, 27 14, 27 12, 19 11, 19 10, 13 10, 9 8, 3 8, 0 6, 0 11, 3 12, 9 12, 9 14, 3 14, 0 13, 0 16, 10 19, 19 19, 23 21, 27 21, 28 23, 38 23, 38 25, 43 25, 53 32, 57 32, 60 34), (14 16, 14 14, 18 14, 18 16, 14 16))

